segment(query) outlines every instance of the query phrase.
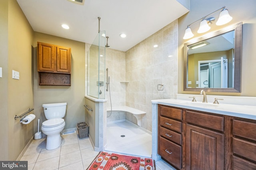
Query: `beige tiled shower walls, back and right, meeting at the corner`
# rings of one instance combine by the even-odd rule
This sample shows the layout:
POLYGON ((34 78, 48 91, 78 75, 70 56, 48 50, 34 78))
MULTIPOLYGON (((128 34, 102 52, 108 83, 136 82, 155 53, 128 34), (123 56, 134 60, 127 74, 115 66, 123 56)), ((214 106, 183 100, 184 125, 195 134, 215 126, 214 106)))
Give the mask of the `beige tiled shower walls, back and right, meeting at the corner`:
MULTIPOLYGON (((141 116, 141 127, 152 131, 151 100, 175 98, 178 92, 178 21, 126 52, 110 48, 106 48, 106 68, 110 76, 112 106, 146 111, 146 115, 141 116), (164 89, 158 90, 158 84, 164 84, 164 89)), ((109 92, 106 97, 107 107, 110 107, 109 92)))

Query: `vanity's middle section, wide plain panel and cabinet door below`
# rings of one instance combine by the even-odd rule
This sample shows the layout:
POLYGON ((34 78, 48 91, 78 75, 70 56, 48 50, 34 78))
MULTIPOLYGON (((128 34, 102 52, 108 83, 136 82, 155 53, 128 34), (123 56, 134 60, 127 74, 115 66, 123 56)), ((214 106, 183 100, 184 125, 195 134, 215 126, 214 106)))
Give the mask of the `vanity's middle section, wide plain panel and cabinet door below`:
POLYGON ((186 111, 185 121, 186 170, 223 170, 224 134, 213 130, 223 131, 223 117, 186 111))

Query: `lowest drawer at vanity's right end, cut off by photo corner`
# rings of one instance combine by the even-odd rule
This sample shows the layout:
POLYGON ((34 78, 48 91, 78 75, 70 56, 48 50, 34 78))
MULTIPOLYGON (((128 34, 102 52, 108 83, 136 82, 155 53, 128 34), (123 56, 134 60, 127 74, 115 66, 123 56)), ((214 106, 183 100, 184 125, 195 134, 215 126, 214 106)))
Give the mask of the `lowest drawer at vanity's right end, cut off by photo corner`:
POLYGON ((233 156, 233 170, 256 170, 256 164, 233 156))

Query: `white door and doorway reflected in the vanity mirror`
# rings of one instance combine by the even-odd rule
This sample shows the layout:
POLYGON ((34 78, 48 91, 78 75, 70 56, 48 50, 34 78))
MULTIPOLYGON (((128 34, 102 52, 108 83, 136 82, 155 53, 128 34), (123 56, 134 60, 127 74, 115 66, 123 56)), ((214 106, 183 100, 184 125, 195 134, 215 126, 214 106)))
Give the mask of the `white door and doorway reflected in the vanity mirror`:
POLYGON ((198 61, 199 88, 228 87, 228 59, 198 61))

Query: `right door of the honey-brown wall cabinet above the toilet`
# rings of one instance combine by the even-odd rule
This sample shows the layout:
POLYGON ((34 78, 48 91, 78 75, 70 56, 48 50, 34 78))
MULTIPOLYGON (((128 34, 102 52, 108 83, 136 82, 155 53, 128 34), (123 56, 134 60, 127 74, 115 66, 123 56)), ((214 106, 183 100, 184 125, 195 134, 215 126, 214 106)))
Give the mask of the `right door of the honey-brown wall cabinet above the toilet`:
POLYGON ((57 46, 57 72, 70 73, 70 48, 57 46))

